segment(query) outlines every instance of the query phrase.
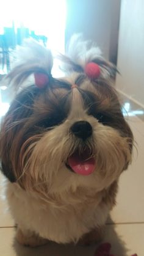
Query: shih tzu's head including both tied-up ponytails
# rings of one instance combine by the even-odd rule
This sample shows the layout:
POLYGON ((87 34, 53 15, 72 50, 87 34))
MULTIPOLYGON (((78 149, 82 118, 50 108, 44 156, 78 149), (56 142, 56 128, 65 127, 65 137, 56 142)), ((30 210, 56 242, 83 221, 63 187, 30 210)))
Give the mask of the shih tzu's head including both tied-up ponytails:
POLYGON ((101 191, 131 162, 132 132, 110 84, 116 68, 88 45, 72 40, 60 56, 66 75, 56 79, 49 50, 30 43, 7 76, 17 89, 36 74, 36 86, 21 89, 1 128, 2 171, 24 189, 101 191), (94 72, 93 64, 86 70, 89 63, 94 72), (48 78, 42 86, 40 74, 48 78))

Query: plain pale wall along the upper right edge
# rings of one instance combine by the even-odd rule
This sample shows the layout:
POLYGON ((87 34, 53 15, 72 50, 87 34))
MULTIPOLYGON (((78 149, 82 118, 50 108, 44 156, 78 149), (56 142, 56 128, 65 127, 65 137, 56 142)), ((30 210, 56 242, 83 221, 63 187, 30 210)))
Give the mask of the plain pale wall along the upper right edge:
POLYGON ((116 86, 144 107, 144 1, 122 0, 116 86))

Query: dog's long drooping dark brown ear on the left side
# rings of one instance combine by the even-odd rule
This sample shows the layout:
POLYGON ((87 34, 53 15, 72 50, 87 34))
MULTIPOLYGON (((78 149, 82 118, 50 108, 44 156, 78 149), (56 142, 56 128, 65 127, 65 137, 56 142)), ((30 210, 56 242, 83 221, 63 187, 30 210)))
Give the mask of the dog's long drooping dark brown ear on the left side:
POLYGON ((27 87, 12 101, 9 111, 5 114, 0 133, 0 169, 11 181, 15 182, 21 175, 20 148, 23 141, 18 137, 23 133, 23 126, 32 114, 32 105, 40 95, 37 87, 27 87))

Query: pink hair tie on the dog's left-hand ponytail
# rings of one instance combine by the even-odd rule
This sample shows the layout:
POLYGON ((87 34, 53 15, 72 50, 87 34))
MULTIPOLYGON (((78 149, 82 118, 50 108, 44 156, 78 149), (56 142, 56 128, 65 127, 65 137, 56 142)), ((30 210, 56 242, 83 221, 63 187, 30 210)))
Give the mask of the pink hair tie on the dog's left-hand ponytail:
POLYGON ((43 89, 47 86, 49 82, 49 77, 46 73, 34 73, 35 86, 39 89, 43 89))

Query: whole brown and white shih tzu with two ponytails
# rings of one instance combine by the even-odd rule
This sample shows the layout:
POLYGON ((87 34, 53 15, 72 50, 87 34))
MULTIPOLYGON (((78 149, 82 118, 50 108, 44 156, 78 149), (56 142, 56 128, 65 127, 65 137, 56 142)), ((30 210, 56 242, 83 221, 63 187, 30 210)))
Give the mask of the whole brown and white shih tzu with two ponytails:
POLYGON ((37 42, 18 55, 0 137, 16 238, 29 246, 98 241, 132 155, 132 132, 111 84, 117 68, 76 36, 59 55, 62 78, 51 75, 52 53, 37 42), (35 82, 26 86, 30 75, 35 82))

